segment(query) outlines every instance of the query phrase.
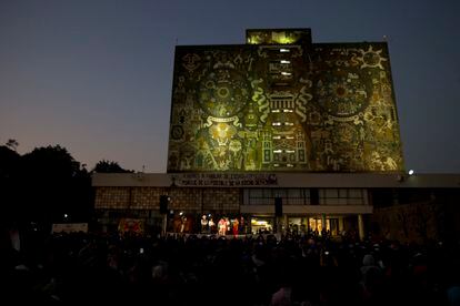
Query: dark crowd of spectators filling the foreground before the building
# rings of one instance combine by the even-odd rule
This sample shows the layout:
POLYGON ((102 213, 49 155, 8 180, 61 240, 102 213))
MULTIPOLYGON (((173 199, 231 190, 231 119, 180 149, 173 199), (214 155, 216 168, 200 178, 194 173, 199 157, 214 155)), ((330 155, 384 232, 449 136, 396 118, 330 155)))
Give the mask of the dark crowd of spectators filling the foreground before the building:
POLYGON ((459 305, 458 243, 316 235, 1 241, 2 304, 459 305), (457 304, 456 304, 457 303, 457 304))

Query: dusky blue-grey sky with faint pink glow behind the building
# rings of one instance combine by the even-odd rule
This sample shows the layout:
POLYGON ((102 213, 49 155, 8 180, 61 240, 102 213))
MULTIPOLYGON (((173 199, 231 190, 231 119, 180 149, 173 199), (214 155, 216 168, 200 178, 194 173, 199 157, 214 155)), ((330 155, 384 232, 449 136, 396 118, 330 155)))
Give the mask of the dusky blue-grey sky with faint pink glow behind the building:
POLYGON ((166 172, 176 44, 387 35, 406 169, 460 173, 460 1, 0 1, 0 143, 166 172))

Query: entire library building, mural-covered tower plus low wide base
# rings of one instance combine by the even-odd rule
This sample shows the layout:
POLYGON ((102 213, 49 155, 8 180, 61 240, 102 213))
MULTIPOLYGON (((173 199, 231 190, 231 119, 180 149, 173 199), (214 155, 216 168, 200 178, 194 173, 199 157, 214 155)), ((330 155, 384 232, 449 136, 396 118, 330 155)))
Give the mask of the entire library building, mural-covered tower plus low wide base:
MULTIPOLYGON (((94 173, 100 231, 458 236, 460 175, 404 169, 388 44, 251 29, 177 45, 167 173, 94 173)), ((152 153, 153 154, 153 153, 152 153)))

